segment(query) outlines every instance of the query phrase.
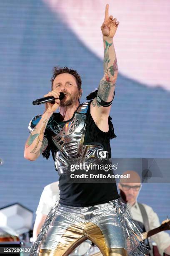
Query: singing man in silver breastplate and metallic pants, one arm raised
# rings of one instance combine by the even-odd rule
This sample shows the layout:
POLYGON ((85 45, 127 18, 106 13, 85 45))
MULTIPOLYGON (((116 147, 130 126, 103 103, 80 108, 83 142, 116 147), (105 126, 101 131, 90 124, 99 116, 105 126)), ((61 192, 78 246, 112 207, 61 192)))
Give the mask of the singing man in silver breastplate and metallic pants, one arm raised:
POLYGON ((115 182, 70 182, 70 164, 102 161, 102 151, 111 158, 110 139, 116 137, 109 113, 117 80, 113 37, 119 22, 108 15, 108 8, 107 4, 101 26, 104 76, 98 90, 87 98, 90 102, 80 104, 82 89, 77 72, 55 67, 52 91, 44 95, 55 97, 55 103, 47 103, 43 115, 30 122, 24 157, 35 161, 42 153, 48 159, 51 151, 60 175, 59 203, 50 211, 31 255, 69 255, 86 239, 104 256, 140 253, 140 233, 118 199, 115 182), (60 92, 65 94, 61 102, 60 92), (59 113, 55 113, 57 109, 59 113))

